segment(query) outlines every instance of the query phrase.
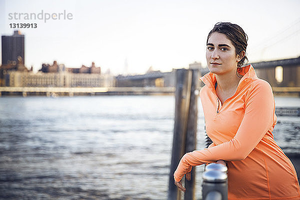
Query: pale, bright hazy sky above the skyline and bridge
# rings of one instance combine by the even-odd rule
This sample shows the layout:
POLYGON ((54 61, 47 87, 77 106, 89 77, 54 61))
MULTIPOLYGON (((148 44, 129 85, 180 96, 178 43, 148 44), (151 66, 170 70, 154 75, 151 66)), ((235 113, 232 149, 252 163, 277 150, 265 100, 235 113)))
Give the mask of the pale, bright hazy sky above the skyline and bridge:
POLYGON ((299 7, 299 0, 0 0, 0 33, 17 29, 10 23, 37 24, 18 28, 25 35, 25 66, 33 71, 53 60, 66 67, 94 61, 103 72, 140 74, 150 66, 206 66, 207 34, 219 21, 244 29, 249 62, 298 57, 299 7), (64 11, 70 19, 45 20, 45 13, 55 18, 64 11), (18 18, 41 12, 43 19, 18 18))

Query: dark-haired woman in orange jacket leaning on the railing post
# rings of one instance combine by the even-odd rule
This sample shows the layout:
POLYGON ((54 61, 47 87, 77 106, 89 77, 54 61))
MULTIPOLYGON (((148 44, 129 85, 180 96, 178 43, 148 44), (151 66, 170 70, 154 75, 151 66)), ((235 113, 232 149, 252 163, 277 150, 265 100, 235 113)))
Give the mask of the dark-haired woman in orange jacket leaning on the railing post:
POLYGON ((174 172, 176 186, 185 191, 181 178, 190 178, 192 166, 226 160, 228 199, 300 199, 295 169, 273 138, 272 89, 251 65, 242 66, 246 34, 236 24, 219 22, 206 44, 210 72, 200 78, 205 83, 200 97, 213 142, 182 156, 174 172))

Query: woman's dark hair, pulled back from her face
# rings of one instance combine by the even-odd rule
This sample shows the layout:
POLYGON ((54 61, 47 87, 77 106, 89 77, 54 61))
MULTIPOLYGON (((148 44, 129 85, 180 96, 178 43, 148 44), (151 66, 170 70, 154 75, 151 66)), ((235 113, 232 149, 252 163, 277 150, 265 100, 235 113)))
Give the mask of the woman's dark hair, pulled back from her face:
MULTIPOLYGON (((208 42, 208 38, 213 32, 225 34, 234 45, 236 55, 239 55, 243 50, 246 52, 248 36, 239 25, 230 22, 217 22, 208 33, 206 44, 208 42)), ((248 61, 248 58, 244 55, 241 60, 237 62, 237 67, 240 67, 246 63, 246 61, 248 61)))

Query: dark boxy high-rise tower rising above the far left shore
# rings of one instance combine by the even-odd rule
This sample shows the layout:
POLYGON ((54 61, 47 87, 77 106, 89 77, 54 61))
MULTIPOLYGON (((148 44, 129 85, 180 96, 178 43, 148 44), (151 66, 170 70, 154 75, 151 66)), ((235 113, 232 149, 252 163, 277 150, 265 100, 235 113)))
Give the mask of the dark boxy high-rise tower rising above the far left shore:
POLYGON ((13 35, 2 35, 2 64, 18 63, 24 60, 24 35, 15 30, 13 35))

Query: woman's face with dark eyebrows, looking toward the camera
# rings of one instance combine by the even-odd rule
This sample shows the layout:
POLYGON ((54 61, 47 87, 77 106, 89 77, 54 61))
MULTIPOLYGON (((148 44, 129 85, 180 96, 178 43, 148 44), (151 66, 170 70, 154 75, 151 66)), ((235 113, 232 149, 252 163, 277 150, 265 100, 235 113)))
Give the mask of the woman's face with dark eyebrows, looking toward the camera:
POLYGON ((210 72, 215 74, 235 73, 240 60, 235 47, 223 33, 213 32, 207 41, 206 61, 210 72))

